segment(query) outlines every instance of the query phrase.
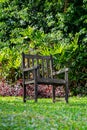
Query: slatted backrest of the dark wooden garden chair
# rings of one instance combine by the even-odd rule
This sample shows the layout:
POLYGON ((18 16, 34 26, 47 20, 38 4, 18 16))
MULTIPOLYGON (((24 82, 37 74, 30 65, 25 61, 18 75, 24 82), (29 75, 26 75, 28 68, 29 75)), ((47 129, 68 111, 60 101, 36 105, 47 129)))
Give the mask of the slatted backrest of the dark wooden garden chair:
POLYGON ((23 68, 40 66, 37 76, 39 78, 52 78, 53 60, 52 56, 30 55, 22 53, 23 68))

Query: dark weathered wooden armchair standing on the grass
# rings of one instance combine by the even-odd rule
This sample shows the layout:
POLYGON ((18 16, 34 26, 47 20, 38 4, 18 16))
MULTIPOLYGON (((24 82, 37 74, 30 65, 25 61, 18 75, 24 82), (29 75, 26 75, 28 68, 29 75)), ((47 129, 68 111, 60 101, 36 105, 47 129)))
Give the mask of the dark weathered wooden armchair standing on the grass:
POLYGON ((38 84, 52 85, 52 99, 55 102, 55 88, 59 85, 65 86, 65 100, 68 103, 68 68, 57 72, 53 71, 52 56, 30 55, 22 53, 23 71, 23 101, 26 102, 26 85, 34 84, 35 102, 38 97, 38 84), (64 79, 57 79, 55 75, 65 74, 64 79))

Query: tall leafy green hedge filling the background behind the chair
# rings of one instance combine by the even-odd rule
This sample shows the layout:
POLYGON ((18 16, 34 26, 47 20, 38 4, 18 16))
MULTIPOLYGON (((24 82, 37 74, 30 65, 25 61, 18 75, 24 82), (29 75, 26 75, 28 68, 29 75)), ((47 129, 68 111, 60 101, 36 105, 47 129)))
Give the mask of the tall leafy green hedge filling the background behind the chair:
POLYGON ((87 95, 87 0, 0 0, 1 81, 22 78, 23 51, 52 54, 71 93, 87 95))

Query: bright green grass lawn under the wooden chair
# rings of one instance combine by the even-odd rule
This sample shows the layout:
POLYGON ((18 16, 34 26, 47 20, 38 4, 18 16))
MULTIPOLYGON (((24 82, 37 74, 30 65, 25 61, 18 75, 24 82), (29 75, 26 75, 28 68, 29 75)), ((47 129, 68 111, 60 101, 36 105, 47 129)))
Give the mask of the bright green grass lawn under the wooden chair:
POLYGON ((52 103, 0 97, 0 130, 87 130, 87 97, 52 103))

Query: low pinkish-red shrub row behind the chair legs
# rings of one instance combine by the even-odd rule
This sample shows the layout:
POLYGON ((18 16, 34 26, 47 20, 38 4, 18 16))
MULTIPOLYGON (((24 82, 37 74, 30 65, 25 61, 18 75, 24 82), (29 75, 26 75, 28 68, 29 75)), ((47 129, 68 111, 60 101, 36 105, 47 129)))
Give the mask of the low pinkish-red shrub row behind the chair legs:
MULTIPOLYGON (((34 98, 34 86, 27 85, 27 96, 34 98)), ((9 85, 5 80, 0 83, 0 95, 1 96, 22 96, 23 86, 22 80, 18 80, 15 84, 9 85)), ((56 96, 63 97, 64 89, 63 86, 56 88, 56 96)), ((50 98, 52 97, 52 86, 51 85, 39 85, 38 86, 38 97, 50 98)))

